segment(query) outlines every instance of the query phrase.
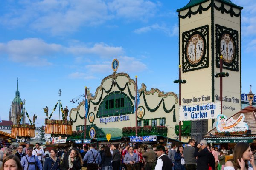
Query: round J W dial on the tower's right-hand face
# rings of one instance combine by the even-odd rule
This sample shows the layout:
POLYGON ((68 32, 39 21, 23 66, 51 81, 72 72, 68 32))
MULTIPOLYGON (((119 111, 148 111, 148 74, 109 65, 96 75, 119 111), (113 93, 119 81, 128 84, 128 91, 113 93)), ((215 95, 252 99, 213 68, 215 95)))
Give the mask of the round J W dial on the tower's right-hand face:
POLYGON ((234 54, 236 52, 234 47, 233 37, 231 37, 230 34, 223 34, 221 36, 219 50, 223 56, 223 61, 227 64, 230 64, 234 59, 234 54))

